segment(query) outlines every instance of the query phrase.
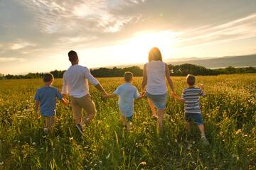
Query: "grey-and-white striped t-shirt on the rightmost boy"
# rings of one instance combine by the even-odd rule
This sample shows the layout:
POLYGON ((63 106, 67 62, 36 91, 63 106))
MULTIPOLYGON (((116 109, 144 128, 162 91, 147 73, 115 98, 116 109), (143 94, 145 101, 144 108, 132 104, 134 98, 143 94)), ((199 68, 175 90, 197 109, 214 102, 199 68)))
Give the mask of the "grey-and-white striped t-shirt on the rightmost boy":
POLYGON ((199 113, 201 110, 199 108, 199 96, 205 96, 203 91, 198 87, 188 87, 183 90, 182 97, 185 101, 185 113, 199 113))

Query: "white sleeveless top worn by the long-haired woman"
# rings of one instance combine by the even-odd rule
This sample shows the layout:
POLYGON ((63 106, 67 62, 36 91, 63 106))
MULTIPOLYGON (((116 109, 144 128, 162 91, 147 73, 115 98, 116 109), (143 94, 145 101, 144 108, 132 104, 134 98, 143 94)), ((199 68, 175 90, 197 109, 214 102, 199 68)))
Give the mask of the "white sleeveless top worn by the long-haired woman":
POLYGON ((166 94, 166 64, 161 61, 151 60, 146 63, 146 92, 159 95, 166 94))

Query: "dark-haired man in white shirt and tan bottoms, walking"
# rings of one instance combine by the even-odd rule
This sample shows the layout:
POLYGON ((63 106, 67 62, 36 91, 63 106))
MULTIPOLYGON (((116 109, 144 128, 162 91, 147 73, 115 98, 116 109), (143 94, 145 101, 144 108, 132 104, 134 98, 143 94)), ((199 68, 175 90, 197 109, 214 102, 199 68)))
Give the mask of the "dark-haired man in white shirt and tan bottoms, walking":
POLYGON ((96 89, 102 91, 102 94, 107 95, 99 81, 92 77, 87 67, 82 67, 78 64, 78 54, 75 51, 68 52, 68 57, 71 62, 69 69, 63 74, 63 98, 70 94, 71 104, 73 108, 73 118, 75 119, 75 127, 82 133, 82 125, 88 123, 95 117, 96 109, 92 101, 92 96, 89 94, 89 86, 87 80, 95 86, 96 89), (87 115, 82 120, 82 108, 87 115), (82 120, 82 121, 81 121, 82 120))

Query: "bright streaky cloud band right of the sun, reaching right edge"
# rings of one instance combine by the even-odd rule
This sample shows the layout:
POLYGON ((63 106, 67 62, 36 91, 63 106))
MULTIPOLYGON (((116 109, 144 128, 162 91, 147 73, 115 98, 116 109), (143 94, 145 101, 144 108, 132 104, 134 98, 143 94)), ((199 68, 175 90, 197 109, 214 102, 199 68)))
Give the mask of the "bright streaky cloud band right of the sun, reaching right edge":
POLYGON ((220 25, 184 31, 176 37, 176 47, 209 45, 256 37, 256 13, 220 25))

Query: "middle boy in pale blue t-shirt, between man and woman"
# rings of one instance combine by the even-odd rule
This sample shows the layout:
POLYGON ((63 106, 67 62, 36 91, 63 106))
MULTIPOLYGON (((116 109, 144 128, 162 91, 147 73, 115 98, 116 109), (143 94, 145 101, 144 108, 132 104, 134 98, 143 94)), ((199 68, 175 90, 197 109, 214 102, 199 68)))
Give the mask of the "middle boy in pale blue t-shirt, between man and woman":
POLYGON ((145 96, 139 95, 139 91, 135 86, 132 86, 132 73, 124 73, 124 84, 119 86, 117 90, 114 91, 114 94, 103 95, 103 98, 114 98, 119 95, 118 105, 119 111, 122 114, 122 124, 123 127, 127 127, 127 131, 131 130, 132 115, 134 113, 134 99, 139 101, 145 96), (127 121, 126 121, 127 120, 127 121))

